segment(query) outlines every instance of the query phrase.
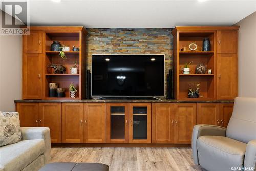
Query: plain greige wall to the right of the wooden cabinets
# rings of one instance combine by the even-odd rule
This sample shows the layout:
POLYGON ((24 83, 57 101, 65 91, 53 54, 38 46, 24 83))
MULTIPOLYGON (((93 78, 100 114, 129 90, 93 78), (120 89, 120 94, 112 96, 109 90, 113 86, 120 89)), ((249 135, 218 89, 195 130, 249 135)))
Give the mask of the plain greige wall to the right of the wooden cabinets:
POLYGON ((256 12, 242 19, 239 29, 239 96, 256 97, 256 12))

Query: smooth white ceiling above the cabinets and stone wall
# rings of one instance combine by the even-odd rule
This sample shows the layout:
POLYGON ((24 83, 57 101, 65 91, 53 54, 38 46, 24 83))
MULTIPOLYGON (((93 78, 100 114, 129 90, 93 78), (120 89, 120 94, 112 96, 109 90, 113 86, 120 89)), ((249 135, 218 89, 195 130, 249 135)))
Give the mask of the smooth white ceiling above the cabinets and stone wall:
POLYGON ((29 7, 31 25, 172 28, 233 25, 256 11, 256 0, 30 0, 29 7))

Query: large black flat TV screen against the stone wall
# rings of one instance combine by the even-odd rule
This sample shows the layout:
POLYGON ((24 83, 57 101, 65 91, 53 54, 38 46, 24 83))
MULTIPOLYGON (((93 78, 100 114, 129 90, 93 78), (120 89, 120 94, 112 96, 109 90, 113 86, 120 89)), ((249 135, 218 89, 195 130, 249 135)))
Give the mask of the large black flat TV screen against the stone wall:
POLYGON ((164 55, 92 55, 92 96, 164 96, 164 55))

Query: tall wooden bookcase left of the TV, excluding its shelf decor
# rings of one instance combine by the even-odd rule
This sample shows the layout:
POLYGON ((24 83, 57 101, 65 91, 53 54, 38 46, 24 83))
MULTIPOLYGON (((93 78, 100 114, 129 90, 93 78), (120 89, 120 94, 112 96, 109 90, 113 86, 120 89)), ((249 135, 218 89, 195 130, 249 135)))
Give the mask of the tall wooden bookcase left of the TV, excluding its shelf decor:
POLYGON ((23 99, 79 100, 85 97, 86 89, 86 30, 80 26, 34 26, 30 35, 23 36, 23 99), (70 47, 62 59, 59 52, 51 51, 53 41, 70 47), (72 51, 72 46, 80 51, 72 51), (77 63, 78 74, 71 74, 70 67, 77 63), (54 74, 49 64, 61 64, 65 74, 54 74), (58 83, 65 88, 65 97, 49 97, 49 83, 58 83), (69 85, 77 88, 76 98, 70 98, 69 85))

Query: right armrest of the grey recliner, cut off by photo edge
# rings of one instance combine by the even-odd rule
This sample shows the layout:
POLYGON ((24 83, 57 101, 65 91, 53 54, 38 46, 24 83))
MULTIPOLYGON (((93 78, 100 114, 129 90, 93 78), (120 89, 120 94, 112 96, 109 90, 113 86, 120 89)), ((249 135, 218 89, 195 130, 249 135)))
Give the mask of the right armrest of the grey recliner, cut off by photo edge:
POLYGON ((256 140, 248 142, 245 151, 244 167, 254 170, 256 167, 256 140))

